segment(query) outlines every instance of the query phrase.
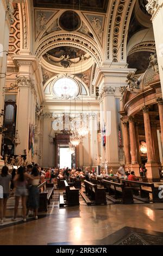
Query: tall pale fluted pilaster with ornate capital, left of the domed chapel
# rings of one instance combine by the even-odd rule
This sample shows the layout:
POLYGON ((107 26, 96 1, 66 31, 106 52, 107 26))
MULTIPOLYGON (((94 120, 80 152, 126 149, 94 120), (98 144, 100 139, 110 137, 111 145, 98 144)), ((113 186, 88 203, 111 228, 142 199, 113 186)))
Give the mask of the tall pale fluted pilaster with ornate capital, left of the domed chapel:
POLYGON ((106 145, 105 145, 105 166, 117 170, 119 163, 118 157, 118 127, 115 103, 115 88, 103 87, 101 90, 103 100, 104 120, 101 126, 105 126, 106 145))

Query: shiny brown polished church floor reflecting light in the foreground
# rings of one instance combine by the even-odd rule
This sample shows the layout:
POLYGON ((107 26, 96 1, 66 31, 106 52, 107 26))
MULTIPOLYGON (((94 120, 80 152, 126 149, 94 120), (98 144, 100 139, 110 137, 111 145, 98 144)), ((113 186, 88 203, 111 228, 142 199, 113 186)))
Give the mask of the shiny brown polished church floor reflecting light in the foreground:
MULTIPOLYGON (((17 223, 9 221, 0 225, 0 245, 109 245, 120 240, 122 235, 134 236, 133 243, 139 244, 140 233, 148 234, 147 244, 150 239, 154 241, 152 235, 160 238, 160 244, 163 244, 161 203, 114 205, 108 202, 103 206, 87 206, 80 198, 80 206, 59 209, 56 191, 53 197, 47 215, 41 213, 38 220, 30 218, 22 223, 19 218, 17 223)), ((12 216, 11 208, 7 210, 7 220, 12 216)))

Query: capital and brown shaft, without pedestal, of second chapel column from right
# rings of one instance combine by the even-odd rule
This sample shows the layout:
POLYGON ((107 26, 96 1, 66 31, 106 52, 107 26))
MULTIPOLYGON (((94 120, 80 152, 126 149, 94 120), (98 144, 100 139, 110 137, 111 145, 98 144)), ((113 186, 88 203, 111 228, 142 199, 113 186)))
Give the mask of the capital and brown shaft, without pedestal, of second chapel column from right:
POLYGON ((151 123, 149 117, 149 109, 147 106, 142 108, 143 118, 145 123, 145 135, 146 135, 146 144, 147 144, 147 157, 148 163, 155 162, 154 161, 154 148, 152 141, 152 131, 151 131, 151 123))

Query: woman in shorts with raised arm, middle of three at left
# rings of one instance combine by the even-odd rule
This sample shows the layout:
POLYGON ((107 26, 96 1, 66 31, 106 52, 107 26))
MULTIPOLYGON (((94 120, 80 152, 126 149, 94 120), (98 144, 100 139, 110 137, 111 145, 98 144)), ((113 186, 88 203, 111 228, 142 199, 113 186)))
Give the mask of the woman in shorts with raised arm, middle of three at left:
POLYGON ((16 186, 15 191, 15 209, 14 209, 14 218, 12 221, 16 221, 17 209, 20 197, 22 199, 22 208, 23 208, 23 221, 26 222, 26 197, 28 196, 27 192, 27 179, 33 179, 31 175, 25 172, 25 168, 20 166, 17 170, 17 174, 14 178, 14 184, 16 186))

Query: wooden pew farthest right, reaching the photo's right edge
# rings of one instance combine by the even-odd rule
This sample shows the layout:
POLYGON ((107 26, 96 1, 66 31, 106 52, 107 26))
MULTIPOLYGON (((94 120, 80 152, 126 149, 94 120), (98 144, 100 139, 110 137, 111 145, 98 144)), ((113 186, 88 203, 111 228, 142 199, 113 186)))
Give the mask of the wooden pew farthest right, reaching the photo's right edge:
MULTIPOLYGON (((159 198, 159 184, 158 183, 148 183, 142 181, 131 181, 131 180, 122 180, 123 184, 129 186, 133 190, 138 190, 139 195, 135 195, 134 198, 142 202, 163 202, 162 198, 159 198), (150 198, 152 194, 152 199, 150 198)), ((160 184, 161 185, 161 184, 160 184)), ((163 184, 162 184, 163 185, 163 184)))

